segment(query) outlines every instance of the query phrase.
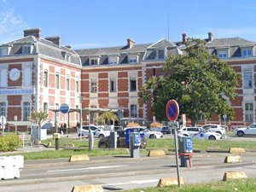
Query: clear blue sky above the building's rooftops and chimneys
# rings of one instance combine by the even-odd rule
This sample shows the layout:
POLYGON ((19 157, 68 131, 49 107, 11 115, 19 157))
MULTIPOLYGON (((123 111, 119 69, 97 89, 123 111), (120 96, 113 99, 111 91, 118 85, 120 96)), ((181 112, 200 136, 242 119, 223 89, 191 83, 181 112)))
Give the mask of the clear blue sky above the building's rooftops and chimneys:
POLYGON ((0 44, 38 27, 43 38, 60 35, 73 49, 125 45, 126 38, 179 41, 183 32, 256 41, 255 20, 254 0, 0 0, 0 44))

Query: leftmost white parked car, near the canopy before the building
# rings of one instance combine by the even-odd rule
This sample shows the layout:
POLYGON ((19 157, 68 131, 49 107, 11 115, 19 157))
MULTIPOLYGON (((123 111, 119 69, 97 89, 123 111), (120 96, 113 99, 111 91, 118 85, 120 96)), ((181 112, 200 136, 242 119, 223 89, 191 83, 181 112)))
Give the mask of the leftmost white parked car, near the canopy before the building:
POLYGON ((79 137, 88 137, 89 136, 89 129, 91 132, 93 132, 94 137, 96 138, 102 138, 107 137, 110 135, 110 131, 104 130, 101 126, 96 125, 84 125, 82 126, 82 130, 78 132, 79 137))

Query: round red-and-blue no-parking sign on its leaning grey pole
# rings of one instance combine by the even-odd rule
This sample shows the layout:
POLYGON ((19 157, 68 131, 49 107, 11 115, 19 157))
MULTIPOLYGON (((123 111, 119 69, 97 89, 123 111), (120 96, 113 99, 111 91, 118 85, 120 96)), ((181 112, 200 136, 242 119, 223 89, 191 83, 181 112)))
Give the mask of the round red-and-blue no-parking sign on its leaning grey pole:
POLYGON ((170 125, 176 126, 174 128, 174 143, 175 143, 175 156, 176 156, 176 167, 177 167, 177 184, 178 187, 181 188, 180 184, 180 177, 179 177, 179 163, 178 163, 178 151, 177 151, 177 128, 178 128, 178 122, 176 122, 177 117, 179 114, 179 107, 175 100, 170 100, 166 104, 166 116, 167 118, 172 121, 170 122, 170 125))

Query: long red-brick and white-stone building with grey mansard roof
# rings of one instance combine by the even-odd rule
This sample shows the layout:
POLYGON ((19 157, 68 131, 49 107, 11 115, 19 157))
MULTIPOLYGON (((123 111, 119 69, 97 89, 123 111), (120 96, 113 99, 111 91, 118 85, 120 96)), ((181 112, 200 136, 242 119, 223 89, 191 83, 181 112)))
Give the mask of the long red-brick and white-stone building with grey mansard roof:
MULTIPOLYGON (((68 103, 71 108, 108 108, 123 112, 124 123, 137 119, 142 124, 151 121, 151 103, 143 104, 141 87, 146 81, 161 75, 170 55, 182 55, 187 35, 180 42, 166 39, 152 44, 136 44, 131 38, 119 47, 73 50, 61 45, 61 38, 41 38, 40 29, 24 31, 20 38, 0 46, 0 113, 11 123, 17 116, 20 124, 32 109, 46 110, 49 119, 68 103)), ((213 38, 208 33, 209 53, 227 61, 241 74, 238 95, 231 102, 235 119, 230 125, 243 125, 255 119, 255 43, 242 38, 213 38)), ((83 123, 92 124, 98 110, 83 113, 83 123)), ((58 122, 67 122, 60 114, 58 122)), ((79 113, 69 114, 70 124, 79 121, 79 113)), ((221 123, 220 117, 201 119, 201 123, 221 123)))

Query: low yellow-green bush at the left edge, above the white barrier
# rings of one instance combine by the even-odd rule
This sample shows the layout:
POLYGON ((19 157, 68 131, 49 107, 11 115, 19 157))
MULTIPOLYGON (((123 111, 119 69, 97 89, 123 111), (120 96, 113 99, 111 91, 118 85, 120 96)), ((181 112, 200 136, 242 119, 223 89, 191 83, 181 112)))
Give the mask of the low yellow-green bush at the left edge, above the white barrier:
POLYGON ((0 151, 14 151, 20 147, 21 141, 18 135, 0 136, 0 151))

